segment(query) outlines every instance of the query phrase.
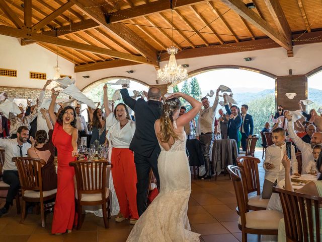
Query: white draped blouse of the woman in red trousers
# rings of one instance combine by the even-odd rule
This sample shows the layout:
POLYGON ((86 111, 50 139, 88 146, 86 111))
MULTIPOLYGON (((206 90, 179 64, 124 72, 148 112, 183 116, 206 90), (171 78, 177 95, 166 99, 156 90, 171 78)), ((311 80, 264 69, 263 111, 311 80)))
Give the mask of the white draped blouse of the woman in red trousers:
POLYGON ((121 129, 120 122, 115 118, 114 113, 111 112, 106 118, 106 130, 108 133, 106 138, 112 141, 114 148, 129 148, 135 132, 135 122, 129 122, 121 129))

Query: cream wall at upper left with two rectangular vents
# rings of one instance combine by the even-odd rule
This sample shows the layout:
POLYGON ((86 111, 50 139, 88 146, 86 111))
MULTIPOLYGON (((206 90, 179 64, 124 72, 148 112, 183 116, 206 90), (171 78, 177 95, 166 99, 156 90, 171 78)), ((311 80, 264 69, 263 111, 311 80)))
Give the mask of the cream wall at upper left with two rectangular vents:
MULTIPOLYGON (((29 79, 29 72, 47 74, 47 79, 54 75, 56 54, 38 44, 20 45, 20 40, 0 35, 0 68, 17 70, 17 77, 0 76, 0 86, 42 88, 45 80, 29 79)), ((58 56, 60 74, 74 74, 74 64, 58 56)))

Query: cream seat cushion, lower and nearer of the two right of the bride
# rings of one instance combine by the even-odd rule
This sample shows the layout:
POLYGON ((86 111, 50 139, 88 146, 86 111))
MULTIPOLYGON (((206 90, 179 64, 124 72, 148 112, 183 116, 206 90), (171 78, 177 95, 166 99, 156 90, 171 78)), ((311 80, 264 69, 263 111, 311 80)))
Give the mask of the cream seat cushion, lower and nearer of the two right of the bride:
MULTIPOLYGON (((245 214, 246 227, 254 229, 278 229, 278 223, 283 213, 275 210, 251 211, 245 214)), ((238 223, 241 225, 241 218, 238 223)))

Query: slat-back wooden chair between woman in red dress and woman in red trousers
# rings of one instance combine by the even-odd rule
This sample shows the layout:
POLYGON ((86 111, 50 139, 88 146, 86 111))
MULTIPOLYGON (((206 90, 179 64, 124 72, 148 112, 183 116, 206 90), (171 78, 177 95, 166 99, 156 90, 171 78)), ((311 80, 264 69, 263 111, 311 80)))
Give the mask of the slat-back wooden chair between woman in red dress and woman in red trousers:
POLYGON ((111 218, 111 191, 107 187, 111 165, 106 160, 73 161, 76 177, 76 208, 78 213, 77 229, 82 227, 85 219, 82 206, 102 205, 105 228, 109 228, 111 218), (107 214, 108 212, 108 214, 107 214))

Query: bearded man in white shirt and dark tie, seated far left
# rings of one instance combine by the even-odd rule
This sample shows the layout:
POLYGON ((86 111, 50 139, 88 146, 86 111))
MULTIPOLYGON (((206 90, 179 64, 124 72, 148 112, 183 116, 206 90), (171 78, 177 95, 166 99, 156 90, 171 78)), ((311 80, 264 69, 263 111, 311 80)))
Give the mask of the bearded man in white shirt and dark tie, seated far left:
MULTIPOLYGON (((31 147, 27 140, 29 138, 29 129, 26 126, 20 126, 17 130, 16 139, 0 139, 0 146, 4 147, 5 163, 3 167, 3 181, 8 184, 9 190, 6 198, 5 206, 0 209, 0 217, 8 213, 10 205, 19 190, 20 182, 18 176, 18 170, 15 162, 12 162, 13 157, 27 157, 27 150, 31 147)), ((34 139, 30 137, 30 140, 34 144, 34 139)))

